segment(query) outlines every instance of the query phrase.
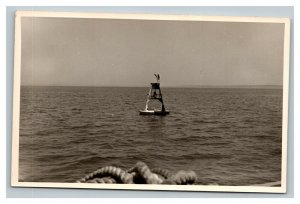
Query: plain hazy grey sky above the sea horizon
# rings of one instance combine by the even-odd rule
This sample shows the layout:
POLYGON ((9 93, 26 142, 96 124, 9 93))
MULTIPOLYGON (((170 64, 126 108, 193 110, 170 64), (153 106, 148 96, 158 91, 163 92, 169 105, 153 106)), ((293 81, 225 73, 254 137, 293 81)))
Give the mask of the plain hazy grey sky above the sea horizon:
POLYGON ((21 84, 283 84, 284 24, 22 17, 21 84))

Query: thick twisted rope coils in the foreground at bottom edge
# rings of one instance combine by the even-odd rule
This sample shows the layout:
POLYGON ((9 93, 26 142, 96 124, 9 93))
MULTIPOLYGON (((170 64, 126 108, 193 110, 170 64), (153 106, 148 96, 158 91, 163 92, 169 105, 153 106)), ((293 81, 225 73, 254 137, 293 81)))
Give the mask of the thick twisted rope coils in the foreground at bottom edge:
POLYGON ((137 162, 127 171, 114 166, 100 168, 77 183, 123 183, 123 184, 195 184, 197 174, 194 171, 178 171, 172 174, 162 168, 150 169, 144 162, 137 162))

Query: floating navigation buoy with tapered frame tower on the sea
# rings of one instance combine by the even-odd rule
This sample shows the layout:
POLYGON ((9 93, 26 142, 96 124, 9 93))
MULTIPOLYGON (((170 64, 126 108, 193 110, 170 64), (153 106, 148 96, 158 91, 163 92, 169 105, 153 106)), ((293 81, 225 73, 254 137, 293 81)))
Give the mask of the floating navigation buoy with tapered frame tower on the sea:
POLYGON ((151 83, 150 91, 147 96, 146 107, 144 110, 140 110, 140 115, 168 115, 170 112, 165 109, 162 92, 160 89, 160 76, 159 74, 154 74, 157 82, 151 83), (148 103, 150 100, 158 100, 161 103, 161 110, 148 109, 148 103))

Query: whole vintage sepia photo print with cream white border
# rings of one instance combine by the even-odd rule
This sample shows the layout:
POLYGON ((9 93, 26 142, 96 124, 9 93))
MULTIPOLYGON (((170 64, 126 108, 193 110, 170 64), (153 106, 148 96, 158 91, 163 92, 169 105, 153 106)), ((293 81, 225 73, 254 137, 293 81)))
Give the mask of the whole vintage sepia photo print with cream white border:
POLYGON ((12 185, 286 191, 287 18, 18 11, 12 185))

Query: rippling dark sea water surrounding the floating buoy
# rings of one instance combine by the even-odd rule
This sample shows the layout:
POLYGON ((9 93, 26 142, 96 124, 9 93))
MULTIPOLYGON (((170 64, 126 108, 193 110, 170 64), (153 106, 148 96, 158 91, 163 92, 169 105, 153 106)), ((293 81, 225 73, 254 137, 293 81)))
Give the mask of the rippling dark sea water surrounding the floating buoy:
POLYGON ((199 184, 281 180, 282 89, 163 88, 170 115, 141 116, 148 88, 21 87, 20 181, 75 182, 138 161, 199 184))

